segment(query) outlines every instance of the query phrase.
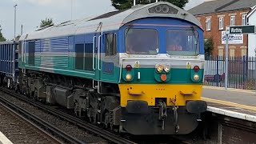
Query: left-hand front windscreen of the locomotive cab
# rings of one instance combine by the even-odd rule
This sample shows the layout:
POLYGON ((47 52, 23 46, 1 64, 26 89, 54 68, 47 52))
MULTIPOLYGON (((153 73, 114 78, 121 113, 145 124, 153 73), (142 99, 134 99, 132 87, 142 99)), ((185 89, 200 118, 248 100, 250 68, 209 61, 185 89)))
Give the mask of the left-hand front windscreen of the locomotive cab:
POLYGON ((125 31, 126 54, 158 54, 158 31, 128 28, 125 31))

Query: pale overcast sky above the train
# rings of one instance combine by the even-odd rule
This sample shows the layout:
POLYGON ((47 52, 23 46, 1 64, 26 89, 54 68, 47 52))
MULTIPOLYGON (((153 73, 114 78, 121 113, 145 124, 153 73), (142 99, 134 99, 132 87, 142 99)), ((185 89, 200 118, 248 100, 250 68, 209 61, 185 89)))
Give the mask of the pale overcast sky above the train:
MULTIPOLYGON (((185 10, 204 0, 190 0, 185 10)), ((103 14, 115 10, 110 0, 0 0, 0 25, 7 39, 14 38, 14 5, 16 12, 16 36, 35 30, 45 18, 53 18, 54 24, 76 18, 103 14), (73 9, 71 9, 73 7, 73 9), (72 13, 71 13, 72 11, 72 13)))

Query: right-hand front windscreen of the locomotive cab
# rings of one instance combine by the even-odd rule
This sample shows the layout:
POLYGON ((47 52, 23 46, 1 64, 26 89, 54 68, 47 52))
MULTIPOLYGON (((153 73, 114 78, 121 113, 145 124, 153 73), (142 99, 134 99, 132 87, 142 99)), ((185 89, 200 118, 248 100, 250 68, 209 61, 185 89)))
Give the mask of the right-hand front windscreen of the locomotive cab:
POLYGON ((199 54, 198 31, 196 30, 167 30, 166 51, 170 55, 199 54))

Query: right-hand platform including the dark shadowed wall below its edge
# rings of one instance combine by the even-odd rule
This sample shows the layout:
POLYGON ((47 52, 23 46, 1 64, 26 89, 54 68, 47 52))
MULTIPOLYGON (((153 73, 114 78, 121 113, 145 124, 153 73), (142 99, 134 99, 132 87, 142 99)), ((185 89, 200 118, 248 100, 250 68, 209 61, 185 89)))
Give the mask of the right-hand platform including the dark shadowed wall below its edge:
POLYGON ((204 136, 216 143, 256 142, 256 92, 203 86, 204 136))

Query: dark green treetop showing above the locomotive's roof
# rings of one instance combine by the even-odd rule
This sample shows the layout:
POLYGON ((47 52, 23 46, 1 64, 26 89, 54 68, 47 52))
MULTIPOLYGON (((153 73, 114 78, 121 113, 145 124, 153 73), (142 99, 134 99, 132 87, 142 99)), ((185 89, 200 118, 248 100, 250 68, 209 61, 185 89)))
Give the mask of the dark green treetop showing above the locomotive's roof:
MULTIPOLYGON (((117 10, 129 9, 134 4, 134 0, 111 0, 111 2, 112 6, 117 10)), ((155 0, 136 0, 137 4, 148 4, 150 2, 155 2, 155 0)), ((175 6, 183 8, 189 0, 162 0, 162 2, 170 2, 175 6)))

